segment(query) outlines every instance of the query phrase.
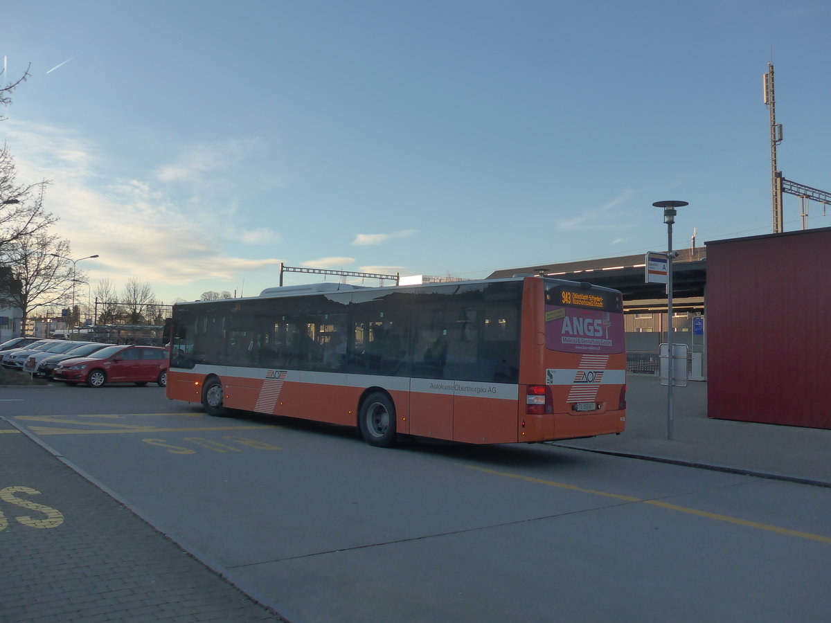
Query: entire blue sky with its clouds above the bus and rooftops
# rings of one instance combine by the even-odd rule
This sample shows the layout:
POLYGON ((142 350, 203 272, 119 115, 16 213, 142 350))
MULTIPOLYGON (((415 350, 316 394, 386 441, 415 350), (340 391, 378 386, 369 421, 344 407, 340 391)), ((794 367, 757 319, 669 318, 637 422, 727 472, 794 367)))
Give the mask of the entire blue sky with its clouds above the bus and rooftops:
POLYGON ((771 53, 779 167, 831 191, 827 0, 6 0, 2 22, 3 80, 32 77, 0 139, 52 180, 73 257, 100 254, 93 288, 645 253, 661 199, 690 202, 676 248, 770 233, 771 53))

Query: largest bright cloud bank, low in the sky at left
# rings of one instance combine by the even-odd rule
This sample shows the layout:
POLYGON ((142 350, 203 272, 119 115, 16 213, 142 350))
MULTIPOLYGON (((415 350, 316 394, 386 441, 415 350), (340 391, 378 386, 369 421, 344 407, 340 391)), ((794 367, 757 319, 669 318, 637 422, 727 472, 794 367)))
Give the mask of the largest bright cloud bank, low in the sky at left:
MULTIPOLYGON (((227 282, 246 272, 273 270, 280 262, 273 257, 237 257, 228 250, 240 242, 274 243, 278 233, 264 227, 218 227, 217 223, 228 223, 227 204, 180 199, 180 193, 160 181, 210 173, 238 159, 245 141, 224 154, 211 150, 203 158, 194 156, 189 166, 162 167, 148 179, 119 178, 110 171, 111 155, 73 130, 12 121, 3 122, 3 129, 18 179, 52 180, 45 206, 60 218, 52 233, 71 243, 73 258, 101 256, 78 264, 93 288, 105 277, 116 289, 137 277, 154 288, 162 286, 162 300, 190 298, 206 289, 193 282, 227 282)), ((203 150, 199 146, 186 153, 203 150)), ((199 188, 204 190, 201 184, 199 188)))

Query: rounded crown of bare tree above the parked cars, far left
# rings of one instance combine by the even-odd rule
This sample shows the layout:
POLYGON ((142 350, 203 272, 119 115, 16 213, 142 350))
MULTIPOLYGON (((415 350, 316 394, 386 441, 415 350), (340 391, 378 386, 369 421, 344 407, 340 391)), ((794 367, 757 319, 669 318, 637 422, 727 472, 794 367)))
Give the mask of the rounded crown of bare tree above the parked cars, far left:
POLYGON ((2 248, 0 258, 12 269, 15 287, 0 292, 0 303, 5 307, 19 307, 22 326, 28 316, 41 307, 66 303, 72 287, 71 269, 57 255, 68 255, 69 242, 48 234, 45 230, 18 238, 2 248))

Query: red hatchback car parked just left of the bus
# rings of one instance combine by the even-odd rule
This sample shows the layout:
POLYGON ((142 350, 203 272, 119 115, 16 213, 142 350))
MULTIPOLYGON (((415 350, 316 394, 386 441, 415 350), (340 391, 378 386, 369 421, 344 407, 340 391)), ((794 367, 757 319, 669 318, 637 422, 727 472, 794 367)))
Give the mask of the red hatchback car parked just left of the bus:
POLYGON ((90 356, 61 361, 52 373, 55 380, 69 385, 106 383, 167 385, 168 355, 158 346, 106 346, 90 356))

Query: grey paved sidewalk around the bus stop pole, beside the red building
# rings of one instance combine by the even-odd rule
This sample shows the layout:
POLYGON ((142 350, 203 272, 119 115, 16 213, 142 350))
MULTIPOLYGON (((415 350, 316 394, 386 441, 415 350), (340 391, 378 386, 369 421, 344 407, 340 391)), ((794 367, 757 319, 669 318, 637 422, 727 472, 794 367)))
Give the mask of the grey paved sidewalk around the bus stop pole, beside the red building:
POLYGON ((831 487, 831 430, 710 419, 706 382, 690 381, 673 388, 667 439, 666 386, 644 375, 628 375, 627 386, 622 434, 557 444, 831 487))

